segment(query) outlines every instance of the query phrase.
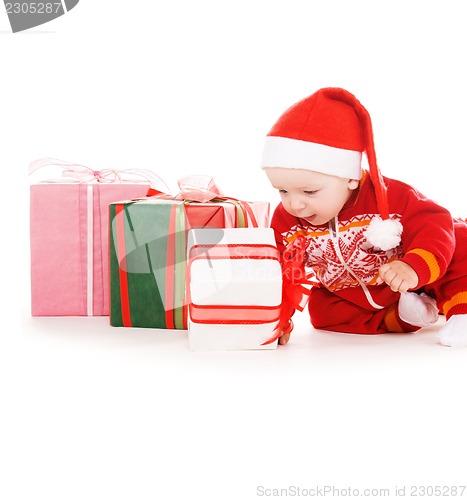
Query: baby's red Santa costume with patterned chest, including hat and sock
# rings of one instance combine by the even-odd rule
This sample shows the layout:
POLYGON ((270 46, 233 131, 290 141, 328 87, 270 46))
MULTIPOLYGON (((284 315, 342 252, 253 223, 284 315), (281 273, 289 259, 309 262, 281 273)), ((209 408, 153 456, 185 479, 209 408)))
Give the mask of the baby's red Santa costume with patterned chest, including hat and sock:
POLYGON ((467 224, 416 189, 381 175, 371 119, 355 96, 325 88, 289 108, 268 134, 262 167, 360 180, 328 224, 314 226, 282 204, 276 208, 271 226, 283 256, 284 319, 309 294, 315 328, 362 334, 418 330, 416 321, 401 318, 407 319, 400 314, 401 294, 378 275, 383 264, 398 259, 416 272, 417 295, 434 299, 446 316, 442 343, 467 345, 467 224), (361 168, 363 152, 369 171, 361 168), (306 270, 314 279, 308 293, 306 270))

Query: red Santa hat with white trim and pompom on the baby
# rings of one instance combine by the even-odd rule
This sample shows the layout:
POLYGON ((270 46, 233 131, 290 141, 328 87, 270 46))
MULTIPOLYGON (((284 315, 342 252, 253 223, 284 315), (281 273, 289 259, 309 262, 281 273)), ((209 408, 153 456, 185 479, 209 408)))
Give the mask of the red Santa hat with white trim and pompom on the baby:
POLYGON ((367 239, 388 250, 399 244, 402 226, 390 218, 387 187, 376 163, 370 115, 347 90, 320 89, 285 111, 266 137, 262 168, 313 170, 360 179, 363 152, 380 214, 367 230, 367 239))

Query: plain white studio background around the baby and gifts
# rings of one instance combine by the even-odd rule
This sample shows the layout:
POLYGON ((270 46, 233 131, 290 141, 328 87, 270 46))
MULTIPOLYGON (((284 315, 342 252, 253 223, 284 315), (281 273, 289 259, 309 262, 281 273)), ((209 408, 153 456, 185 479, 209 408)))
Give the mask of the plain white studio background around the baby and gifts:
POLYGON ((277 351, 192 353, 185 332, 31 318, 26 175, 43 156, 150 168, 174 190, 208 173, 275 203, 265 134, 341 86, 372 115, 384 174, 466 216, 463 4, 81 0, 18 34, 0 12, 2 498, 467 483, 467 351, 438 327, 337 335, 300 316, 277 351))

